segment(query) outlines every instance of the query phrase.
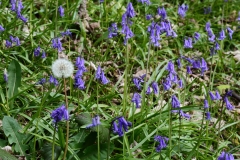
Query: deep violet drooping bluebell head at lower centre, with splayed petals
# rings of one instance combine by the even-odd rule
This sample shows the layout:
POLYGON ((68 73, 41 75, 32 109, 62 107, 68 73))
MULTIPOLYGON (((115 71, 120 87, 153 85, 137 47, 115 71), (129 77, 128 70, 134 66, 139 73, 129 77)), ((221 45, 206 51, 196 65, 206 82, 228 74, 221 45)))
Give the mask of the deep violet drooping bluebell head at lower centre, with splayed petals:
POLYGON ((128 127, 131 127, 132 123, 129 121, 126 121, 124 117, 118 117, 113 121, 113 133, 117 133, 119 137, 122 137, 124 132, 128 131, 128 127), (116 123, 118 121, 118 124, 116 123))

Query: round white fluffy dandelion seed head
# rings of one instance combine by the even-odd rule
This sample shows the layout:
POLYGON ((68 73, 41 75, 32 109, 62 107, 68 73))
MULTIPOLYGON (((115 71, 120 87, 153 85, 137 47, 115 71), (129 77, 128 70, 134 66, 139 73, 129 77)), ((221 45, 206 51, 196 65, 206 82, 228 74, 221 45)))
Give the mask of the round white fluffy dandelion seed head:
POLYGON ((53 62, 52 72, 55 77, 68 78, 73 74, 73 64, 69 60, 60 58, 53 62))

